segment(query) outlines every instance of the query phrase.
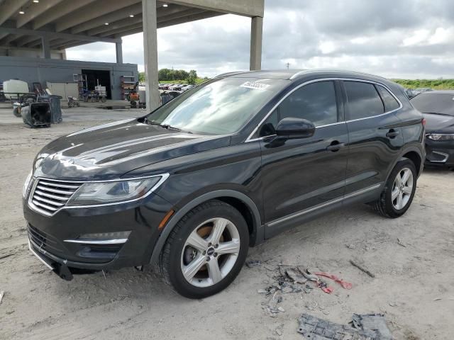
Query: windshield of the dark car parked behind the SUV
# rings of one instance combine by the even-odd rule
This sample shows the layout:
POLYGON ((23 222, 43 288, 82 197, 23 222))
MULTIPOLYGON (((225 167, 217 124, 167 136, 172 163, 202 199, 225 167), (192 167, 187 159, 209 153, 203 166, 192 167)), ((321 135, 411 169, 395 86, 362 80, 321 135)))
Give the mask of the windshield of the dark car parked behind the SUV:
POLYGON ((411 99, 413 106, 422 113, 438 113, 454 116, 453 94, 431 94, 425 92, 411 99))

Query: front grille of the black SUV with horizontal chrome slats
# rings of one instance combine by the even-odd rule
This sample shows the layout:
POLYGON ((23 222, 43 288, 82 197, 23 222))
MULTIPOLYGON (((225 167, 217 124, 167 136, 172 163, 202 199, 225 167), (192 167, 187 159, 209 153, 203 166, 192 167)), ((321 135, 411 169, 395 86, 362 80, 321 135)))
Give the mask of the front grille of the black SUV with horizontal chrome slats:
POLYGON ((31 203, 34 208, 44 215, 53 215, 62 208, 71 198, 72 194, 82 186, 82 183, 55 181, 52 179, 37 179, 31 203))

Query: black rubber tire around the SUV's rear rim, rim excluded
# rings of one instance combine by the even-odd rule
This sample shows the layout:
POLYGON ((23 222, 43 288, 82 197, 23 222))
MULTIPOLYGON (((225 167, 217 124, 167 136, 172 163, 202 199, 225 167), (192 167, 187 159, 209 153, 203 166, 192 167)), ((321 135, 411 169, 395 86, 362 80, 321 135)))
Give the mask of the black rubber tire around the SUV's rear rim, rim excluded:
POLYGON ((411 202, 413 201, 414 193, 416 191, 417 176, 416 166, 413 162, 411 162, 410 159, 403 158, 401 161, 399 161, 396 166, 394 166, 394 169, 392 169, 391 174, 389 174, 389 178, 386 181, 380 199, 375 201, 375 203, 372 203, 374 210, 379 212, 380 215, 389 218, 397 218, 404 215, 406 210, 409 209, 411 202), (410 169, 411 174, 413 175, 413 188, 411 190, 409 200, 404 208, 398 210, 394 207, 392 201, 392 188, 394 186, 394 180, 396 179, 397 174, 399 174, 404 169, 410 169))

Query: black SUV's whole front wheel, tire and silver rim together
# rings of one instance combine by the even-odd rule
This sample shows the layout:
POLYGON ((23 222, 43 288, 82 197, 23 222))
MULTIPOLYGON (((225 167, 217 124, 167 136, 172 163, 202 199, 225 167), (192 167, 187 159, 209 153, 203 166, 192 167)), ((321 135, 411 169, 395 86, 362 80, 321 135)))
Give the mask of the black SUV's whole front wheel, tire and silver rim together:
POLYGON ((248 246, 248 226, 240 212, 211 200, 188 212, 172 230, 160 256, 160 272, 177 293, 208 297, 236 278, 248 246))

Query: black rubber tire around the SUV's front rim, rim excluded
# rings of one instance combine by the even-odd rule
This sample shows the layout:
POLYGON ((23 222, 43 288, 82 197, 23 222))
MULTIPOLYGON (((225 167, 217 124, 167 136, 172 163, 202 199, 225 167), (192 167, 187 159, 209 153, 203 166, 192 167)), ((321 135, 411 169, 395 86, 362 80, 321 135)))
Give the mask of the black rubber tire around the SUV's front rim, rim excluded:
POLYGON ((231 205, 223 203, 220 200, 210 200, 189 211, 181 220, 179 220, 177 225, 175 225, 175 228, 170 233, 164 249, 162 249, 160 254, 158 269, 162 276, 162 280, 168 285, 171 285, 180 295, 191 299, 209 297, 210 295, 219 293, 235 280, 248 255, 248 247, 248 225, 240 212, 231 205), (222 217, 233 222, 233 225, 235 225, 238 230, 240 237, 238 258, 231 268, 231 271, 218 283, 203 288, 196 287, 195 285, 192 285, 192 283, 189 283, 183 276, 182 251, 184 250, 184 244, 186 243, 187 238, 194 229, 206 220, 215 217, 222 217))

